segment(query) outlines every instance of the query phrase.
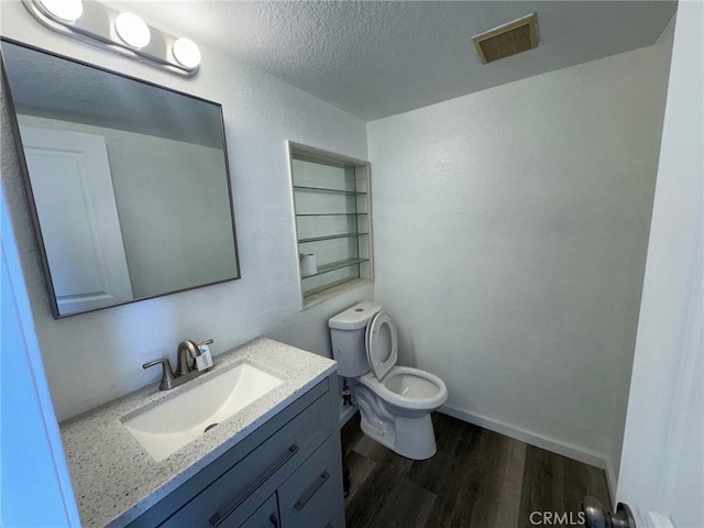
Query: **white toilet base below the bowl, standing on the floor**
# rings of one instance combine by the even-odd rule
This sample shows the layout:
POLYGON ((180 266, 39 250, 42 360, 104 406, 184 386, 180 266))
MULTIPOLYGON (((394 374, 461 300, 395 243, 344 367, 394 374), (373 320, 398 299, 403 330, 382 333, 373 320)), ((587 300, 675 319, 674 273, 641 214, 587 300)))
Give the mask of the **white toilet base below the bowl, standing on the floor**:
POLYGON ((361 410, 362 432, 402 457, 426 460, 438 451, 430 414, 417 418, 395 416, 392 427, 375 427, 361 410))

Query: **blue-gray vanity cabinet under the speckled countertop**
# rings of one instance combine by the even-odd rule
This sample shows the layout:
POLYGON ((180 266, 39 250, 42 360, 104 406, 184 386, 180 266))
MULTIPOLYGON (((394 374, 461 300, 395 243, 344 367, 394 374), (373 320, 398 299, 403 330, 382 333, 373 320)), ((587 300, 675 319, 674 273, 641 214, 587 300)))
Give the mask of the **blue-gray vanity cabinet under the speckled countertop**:
POLYGON ((302 394, 128 526, 343 528, 334 395, 336 374, 302 394))

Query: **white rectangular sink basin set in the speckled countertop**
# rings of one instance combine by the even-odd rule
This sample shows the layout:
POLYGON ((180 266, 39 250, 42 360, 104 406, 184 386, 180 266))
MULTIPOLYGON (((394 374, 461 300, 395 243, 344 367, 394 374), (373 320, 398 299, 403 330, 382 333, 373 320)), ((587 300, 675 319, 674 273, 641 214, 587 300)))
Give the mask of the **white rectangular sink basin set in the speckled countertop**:
POLYGON ((154 407, 124 416, 122 425, 154 460, 164 460, 282 383, 243 362, 154 407))

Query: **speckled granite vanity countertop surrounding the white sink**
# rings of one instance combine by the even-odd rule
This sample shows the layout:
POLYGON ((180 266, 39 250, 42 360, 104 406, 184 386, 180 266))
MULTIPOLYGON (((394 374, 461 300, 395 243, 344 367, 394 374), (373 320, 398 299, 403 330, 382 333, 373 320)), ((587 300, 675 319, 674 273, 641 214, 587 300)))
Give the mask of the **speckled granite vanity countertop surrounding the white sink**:
POLYGON ((172 391, 158 384, 61 425, 81 526, 118 527, 134 520, 228 449, 334 371, 334 361, 266 338, 217 355, 210 372, 172 391), (120 418, 188 391, 248 361, 284 383, 157 462, 120 418))

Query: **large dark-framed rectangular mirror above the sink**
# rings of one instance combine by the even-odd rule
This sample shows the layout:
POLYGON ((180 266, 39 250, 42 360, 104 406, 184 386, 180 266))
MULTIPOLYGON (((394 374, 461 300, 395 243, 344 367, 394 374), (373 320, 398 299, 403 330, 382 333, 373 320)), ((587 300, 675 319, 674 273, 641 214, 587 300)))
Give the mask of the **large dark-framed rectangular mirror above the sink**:
POLYGON ((220 105, 1 51, 54 317, 240 278, 220 105))

